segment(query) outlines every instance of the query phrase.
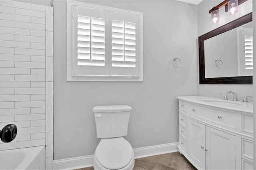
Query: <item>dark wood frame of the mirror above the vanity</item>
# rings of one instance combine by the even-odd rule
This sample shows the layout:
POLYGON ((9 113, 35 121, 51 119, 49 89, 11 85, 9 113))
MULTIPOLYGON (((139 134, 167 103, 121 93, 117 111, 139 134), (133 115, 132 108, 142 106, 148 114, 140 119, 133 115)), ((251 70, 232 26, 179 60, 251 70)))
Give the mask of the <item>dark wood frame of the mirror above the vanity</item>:
POLYGON ((252 12, 198 37, 200 84, 252 84, 252 76, 205 78, 204 41, 252 21, 252 12))

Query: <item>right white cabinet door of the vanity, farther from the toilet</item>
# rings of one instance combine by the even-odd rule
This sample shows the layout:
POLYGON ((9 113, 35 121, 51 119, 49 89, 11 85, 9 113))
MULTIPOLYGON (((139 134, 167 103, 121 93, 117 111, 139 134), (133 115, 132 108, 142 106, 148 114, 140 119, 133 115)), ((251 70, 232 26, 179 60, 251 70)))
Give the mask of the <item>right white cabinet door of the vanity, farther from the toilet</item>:
POLYGON ((206 169, 236 169, 236 136, 206 126, 205 138, 206 169))

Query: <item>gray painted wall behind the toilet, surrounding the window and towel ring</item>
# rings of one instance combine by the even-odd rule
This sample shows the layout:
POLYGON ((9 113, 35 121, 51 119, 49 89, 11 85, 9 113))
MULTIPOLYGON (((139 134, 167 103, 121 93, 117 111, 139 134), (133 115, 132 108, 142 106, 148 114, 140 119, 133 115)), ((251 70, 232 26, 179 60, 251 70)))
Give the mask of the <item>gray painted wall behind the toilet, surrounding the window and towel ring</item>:
MULTIPOLYGON (((50 0, 22 0, 48 4, 50 0)), ((100 139, 92 108, 130 105, 133 148, 178 142, 176 96, 197 94, 197 6, 175 0, 88 3, 144 13, 144 81, 66 81, 66 0, 54 1, 54 160, 94 154, 100 139), (173 57, 182 66, 174 69, 173 57)))

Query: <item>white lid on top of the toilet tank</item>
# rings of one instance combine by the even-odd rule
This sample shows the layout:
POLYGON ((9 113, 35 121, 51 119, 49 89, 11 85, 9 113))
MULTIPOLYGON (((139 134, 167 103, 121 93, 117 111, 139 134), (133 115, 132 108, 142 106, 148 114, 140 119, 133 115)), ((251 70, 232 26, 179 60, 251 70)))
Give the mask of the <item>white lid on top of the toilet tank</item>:
POLYGON ((115 105, 115 106, 95 106, 92 111, 96 113, 104 112, 129 112, 132 107, 128 105, 115 105))

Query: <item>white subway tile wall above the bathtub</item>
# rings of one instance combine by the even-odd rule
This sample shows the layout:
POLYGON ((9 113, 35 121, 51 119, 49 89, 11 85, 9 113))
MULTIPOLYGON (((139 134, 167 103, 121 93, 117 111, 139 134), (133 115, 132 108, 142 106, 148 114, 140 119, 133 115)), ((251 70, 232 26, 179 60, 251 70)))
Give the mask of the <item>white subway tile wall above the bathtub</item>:
POLYGON ((18 127, 0 150, 46 145, 53 160, 53 8, 0 0, 0 128, 18 127))

